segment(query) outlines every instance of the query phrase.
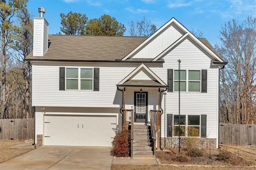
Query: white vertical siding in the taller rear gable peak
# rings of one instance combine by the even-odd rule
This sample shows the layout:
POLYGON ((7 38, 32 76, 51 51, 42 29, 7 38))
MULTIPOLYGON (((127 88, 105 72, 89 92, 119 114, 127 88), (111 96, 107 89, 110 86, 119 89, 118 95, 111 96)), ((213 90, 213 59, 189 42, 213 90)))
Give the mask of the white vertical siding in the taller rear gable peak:
POLYGON ((178 40, 182 35, 183 34, 181 32, 171 25, 164 32, 159 34, 152 42, 148 43, 136 55, 134 55, 134 58, 154 58, 178 40))

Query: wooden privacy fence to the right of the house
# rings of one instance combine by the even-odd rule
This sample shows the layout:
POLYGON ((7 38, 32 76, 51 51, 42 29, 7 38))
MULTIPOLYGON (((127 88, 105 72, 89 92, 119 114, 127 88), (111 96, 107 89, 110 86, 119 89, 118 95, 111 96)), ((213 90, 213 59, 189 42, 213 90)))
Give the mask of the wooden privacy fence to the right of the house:
POLYGON ((219 143, 234 146, 256 146, 256 125, 220 123, 219 143))

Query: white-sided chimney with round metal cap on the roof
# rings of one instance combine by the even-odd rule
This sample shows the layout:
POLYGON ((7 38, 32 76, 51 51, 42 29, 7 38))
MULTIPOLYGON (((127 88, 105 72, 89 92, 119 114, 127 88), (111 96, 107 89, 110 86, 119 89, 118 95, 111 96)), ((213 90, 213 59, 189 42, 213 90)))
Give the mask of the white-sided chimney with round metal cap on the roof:
POLYGON ((44 56, 48 50, 48 22, 44 19, 45 9, 38 8, 39 17, 34 17, 33 56, 44 56))

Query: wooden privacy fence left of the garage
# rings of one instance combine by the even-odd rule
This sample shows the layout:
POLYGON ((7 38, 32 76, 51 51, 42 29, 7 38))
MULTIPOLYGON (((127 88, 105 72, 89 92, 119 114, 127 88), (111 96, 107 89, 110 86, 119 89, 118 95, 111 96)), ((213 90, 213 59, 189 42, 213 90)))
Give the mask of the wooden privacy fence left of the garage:
MULTIPOLYGON (((26 140, 26 119, 0 119, 0 140, 26 140)), ((28 119, 28 139, 34 139, 34 118, 28 119)))

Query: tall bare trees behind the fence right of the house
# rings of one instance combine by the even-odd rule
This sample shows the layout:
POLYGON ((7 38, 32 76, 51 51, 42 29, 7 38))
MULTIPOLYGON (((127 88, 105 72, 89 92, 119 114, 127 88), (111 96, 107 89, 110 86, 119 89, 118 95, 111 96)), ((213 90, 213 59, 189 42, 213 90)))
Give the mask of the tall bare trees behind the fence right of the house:
POLYGON ((221 72, 221 103, 225 121, 248 124, 256 121, 256 18, 242 24, 232 20, 220 31, 217 51, 228 60, 221 72))

